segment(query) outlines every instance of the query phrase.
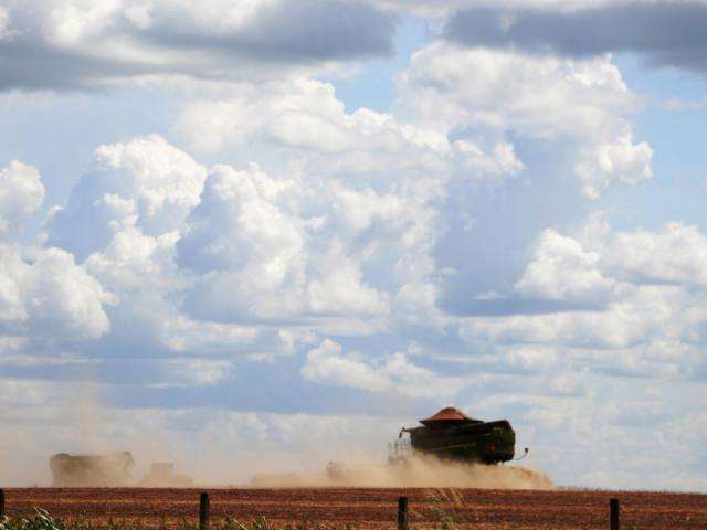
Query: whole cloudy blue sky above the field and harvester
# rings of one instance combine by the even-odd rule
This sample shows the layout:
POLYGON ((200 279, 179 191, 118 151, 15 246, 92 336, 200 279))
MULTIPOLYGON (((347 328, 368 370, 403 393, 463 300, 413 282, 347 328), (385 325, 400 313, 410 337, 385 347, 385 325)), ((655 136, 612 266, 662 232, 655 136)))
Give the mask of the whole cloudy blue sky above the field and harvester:
POLYGON ((445 405, 707 491, 707 2, 0 0, 0 481, 383 462, 445 405))

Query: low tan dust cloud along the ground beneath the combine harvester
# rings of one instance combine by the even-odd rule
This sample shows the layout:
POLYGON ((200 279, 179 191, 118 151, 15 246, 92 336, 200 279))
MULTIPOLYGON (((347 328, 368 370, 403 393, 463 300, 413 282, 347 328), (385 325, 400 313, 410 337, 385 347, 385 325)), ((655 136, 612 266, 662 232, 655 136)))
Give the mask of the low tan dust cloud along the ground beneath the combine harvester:
POLYGON ((320 474, 258 474, 252 487, 555 489, 545 473, 517 465, 483 465, 413 455, 390 465, 329 465, 320 474))

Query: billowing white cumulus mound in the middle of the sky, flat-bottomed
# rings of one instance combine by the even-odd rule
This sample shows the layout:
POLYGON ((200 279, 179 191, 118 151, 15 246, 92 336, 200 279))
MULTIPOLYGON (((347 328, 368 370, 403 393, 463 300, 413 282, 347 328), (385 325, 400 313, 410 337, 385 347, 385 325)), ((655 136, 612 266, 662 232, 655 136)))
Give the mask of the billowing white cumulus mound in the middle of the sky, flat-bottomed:
POLYGON ((180 266, 202 278, 188 308, 217 321, 387 315, 390 294, 369 282, 426 277, 399 261, 426 255, 433 215, 415 193, 215 167, 178 243, 180 266))

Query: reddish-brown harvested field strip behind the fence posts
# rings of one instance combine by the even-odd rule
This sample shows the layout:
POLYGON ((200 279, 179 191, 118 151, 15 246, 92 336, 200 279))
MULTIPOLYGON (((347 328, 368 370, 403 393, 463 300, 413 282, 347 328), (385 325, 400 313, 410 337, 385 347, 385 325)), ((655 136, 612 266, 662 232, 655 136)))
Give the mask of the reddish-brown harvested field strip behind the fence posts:
MULTIPOLYGON (((6 490, 11 516, 42 507, 65 520, 129 520, 157 527, 196 522, 199 489, 6 490)), ((410 499, 412 528, 439 527, 441 515, 474 529, 605 529, 609 498, 621 500, 624 529, 705 529, 707 495, 627 491, 432 489, 210 489, 212 521, 265 516, 277 523, 323 522, 395 528, 397 500, 410 499)))

